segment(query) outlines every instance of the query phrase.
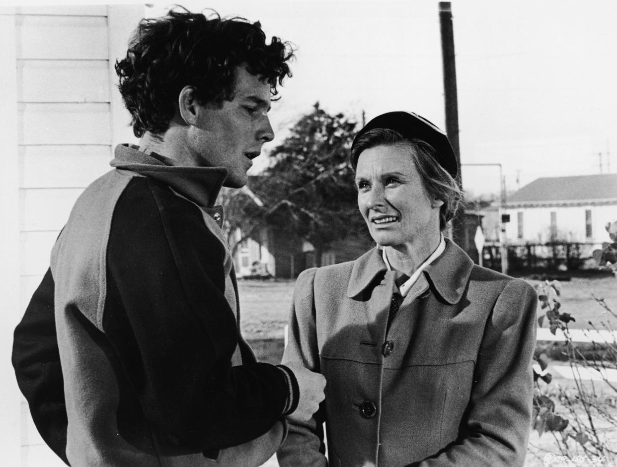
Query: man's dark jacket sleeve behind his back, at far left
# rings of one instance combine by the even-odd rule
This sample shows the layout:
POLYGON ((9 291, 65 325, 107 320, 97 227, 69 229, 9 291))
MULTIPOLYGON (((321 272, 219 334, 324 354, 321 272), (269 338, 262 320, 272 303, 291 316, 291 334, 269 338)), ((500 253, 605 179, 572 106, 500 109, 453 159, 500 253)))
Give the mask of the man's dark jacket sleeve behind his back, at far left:
POLYGON ((12 363, 36 429, 68 465, 67 412, 54 319, 54 278, 49 269, 15 328, 12 363))

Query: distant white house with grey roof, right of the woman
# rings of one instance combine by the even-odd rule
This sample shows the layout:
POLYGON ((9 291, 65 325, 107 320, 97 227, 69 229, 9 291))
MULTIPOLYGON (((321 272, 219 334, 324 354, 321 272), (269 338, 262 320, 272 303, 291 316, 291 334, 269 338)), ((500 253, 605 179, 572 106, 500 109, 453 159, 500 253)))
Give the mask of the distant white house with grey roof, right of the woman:
POLYGON ((617 174, 540 178, 505 208, 510 245, 608 242, 605 225, 617 219, 617 174))

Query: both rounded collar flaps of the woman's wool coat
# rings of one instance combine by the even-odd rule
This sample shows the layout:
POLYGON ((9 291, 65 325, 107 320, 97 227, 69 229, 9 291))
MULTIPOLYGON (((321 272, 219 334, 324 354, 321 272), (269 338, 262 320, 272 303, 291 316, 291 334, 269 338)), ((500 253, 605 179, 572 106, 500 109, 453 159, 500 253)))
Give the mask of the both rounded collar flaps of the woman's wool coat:
MULTIPOLYGON (((473 261, 449 238, 445 239, 444 253, 424 269, 429 285, 449 304, 460 301, 469 281, 473 261)), ((362 293, 380 272, 386 272, 381 250, 375 247, 354 261, 347 296, 362 293)))

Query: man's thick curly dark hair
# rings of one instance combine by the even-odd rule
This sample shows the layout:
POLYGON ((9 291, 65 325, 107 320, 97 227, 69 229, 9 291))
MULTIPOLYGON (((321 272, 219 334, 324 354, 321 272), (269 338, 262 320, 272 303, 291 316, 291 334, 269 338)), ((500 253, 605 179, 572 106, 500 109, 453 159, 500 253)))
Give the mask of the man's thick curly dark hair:
POLYGON ((233 99, 236 68, 246 65, 263 76, 271 94, 291 76, 289 43, 266 36, 259 22, 240 17, 206 16, 186 9, 170 10, 160 18, 143 19, 123 60, 116 62, 120 94, 133 117, 133 133, 160 135, 175 115, 184 86, 195 86, 200 104, 222 105, 233 99))

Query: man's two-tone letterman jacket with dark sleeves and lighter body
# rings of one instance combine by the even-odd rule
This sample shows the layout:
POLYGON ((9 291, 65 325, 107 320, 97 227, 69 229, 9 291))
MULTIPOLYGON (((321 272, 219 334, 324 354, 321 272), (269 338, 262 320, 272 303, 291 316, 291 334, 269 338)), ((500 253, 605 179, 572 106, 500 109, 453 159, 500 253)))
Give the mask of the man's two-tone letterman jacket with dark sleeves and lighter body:
POLYGON ((286 432, 288 381, 239 332, 226 170, 169 165, 117 147, 15 330, 33 419, 73 466, 259 465, 286 432))

